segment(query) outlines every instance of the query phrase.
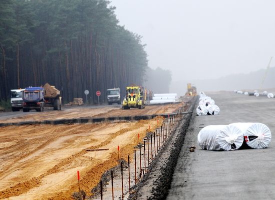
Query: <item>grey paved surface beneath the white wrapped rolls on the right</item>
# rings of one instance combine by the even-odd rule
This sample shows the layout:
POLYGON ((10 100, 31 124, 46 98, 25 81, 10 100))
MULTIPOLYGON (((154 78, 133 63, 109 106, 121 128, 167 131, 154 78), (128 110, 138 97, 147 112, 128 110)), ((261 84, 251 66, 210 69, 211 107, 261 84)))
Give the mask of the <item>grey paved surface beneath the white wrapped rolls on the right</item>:
POLYGON ((186 132, 167 199, 275 199, 275 99, 233 92, 206 93, 219 115, 195 116, 186 132), (202 150, 201 127, 232 122, 261 122, 272 133, 265 149, 202 150), (195 144, 195 152, 189 147, 195 144))

